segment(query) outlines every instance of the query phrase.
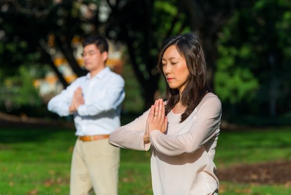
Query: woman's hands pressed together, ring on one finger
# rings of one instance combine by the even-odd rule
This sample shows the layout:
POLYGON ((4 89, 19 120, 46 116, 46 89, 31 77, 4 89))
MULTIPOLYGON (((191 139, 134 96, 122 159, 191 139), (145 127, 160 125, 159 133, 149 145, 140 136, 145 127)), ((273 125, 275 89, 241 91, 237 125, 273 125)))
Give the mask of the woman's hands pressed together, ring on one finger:
POLYGON ((151 106, 147 119, 144 143, 149 143, 149 137, 153 130, 160 130, 164 133, 167 130, 168 118, 165 116, 165 102, 162 99, 156 100, 151 106))

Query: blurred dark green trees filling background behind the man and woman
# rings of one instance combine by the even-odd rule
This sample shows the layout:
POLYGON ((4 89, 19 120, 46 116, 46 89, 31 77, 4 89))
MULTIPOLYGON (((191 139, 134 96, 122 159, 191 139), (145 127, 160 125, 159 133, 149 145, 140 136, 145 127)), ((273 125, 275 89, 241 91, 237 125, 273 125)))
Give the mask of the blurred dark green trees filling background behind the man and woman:
POLYGON ((69 84, 52 59, 57 51, 77 76, 84 75, 73 42, 101 34, 125 46, 123 107, 141 112, 165 92, 155 68, 162 43, 195 31, 225 119, 288 121, 290 23, 289 0, 2 0, 0 110, 46 116, 33 81, 53 70, 63 87, 69 84))

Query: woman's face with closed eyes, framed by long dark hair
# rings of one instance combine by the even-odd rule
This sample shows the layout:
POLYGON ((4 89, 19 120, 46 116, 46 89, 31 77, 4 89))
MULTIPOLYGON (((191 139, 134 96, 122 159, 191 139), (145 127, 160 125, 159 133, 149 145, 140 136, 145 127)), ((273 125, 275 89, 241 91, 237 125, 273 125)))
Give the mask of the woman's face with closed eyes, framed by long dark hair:
POLYGON ((181 56, 175 45, 170 46, 162 58, 163 72, 171 89, 182 92, 189 74, 185 58, 181 56))

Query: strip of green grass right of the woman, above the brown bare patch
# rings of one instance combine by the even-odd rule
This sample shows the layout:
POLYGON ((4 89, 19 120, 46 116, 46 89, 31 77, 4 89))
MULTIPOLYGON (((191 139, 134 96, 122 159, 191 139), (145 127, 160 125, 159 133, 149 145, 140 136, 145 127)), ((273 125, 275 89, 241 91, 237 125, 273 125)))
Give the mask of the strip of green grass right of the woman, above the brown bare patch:
POLYGON ((291 128, 224 132, 218 139, 218 167, 280 159, 291 160, 291 128))

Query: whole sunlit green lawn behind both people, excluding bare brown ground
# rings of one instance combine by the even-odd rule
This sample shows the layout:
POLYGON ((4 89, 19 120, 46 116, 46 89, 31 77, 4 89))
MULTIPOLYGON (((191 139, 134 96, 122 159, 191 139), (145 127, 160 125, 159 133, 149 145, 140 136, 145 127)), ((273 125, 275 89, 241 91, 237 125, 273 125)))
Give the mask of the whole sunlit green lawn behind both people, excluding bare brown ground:
MULTIPOLYGON (((221 131, 215 162, 291 159, 291 128, 221 131)), ((68 195, 74 130, 0 129, 0 195, 68 195)), ((151 195, 150 152, 121 150, 119 195, 151 195)), ((220 195, 291 195, 289 185, 221 181, 220 195)))

